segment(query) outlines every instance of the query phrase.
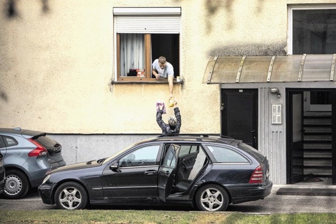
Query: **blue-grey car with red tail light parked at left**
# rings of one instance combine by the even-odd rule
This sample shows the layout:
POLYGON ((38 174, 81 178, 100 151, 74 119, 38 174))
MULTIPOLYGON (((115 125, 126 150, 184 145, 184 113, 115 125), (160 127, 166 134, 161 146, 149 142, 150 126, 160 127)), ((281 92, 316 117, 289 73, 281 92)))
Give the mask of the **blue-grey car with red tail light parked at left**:
POLYGON ((8 199, 24 197, 42 183, 47 171, 66 165, 62 146, 40 131, 0 128, 0 152, 6 171, 3 195, 8 199))

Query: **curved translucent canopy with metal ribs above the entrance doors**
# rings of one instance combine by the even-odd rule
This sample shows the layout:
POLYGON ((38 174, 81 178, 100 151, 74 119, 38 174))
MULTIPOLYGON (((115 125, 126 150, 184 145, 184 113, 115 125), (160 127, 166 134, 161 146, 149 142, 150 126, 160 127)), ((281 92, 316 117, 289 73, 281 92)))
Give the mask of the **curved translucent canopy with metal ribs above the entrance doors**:
POLYGON ((336 54, 212 57, 203 83, 333 81, 336 54))

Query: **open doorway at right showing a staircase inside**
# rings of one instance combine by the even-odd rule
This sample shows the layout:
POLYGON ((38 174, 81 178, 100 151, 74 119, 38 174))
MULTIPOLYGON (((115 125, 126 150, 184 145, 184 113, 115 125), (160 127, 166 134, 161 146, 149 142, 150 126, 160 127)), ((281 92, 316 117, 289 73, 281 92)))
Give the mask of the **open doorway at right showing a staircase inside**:
POLYGON ((335 93, 286 90, 288 184, 336 184, 335 93))

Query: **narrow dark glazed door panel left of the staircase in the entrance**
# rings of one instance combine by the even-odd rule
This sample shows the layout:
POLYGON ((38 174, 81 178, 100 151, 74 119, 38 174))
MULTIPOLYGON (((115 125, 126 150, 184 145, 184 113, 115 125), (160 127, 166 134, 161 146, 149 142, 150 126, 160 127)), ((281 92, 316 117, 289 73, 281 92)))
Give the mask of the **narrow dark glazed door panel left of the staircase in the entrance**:
POLYGON ((287 94, 287 155, 290 184, 303 181, 303 91, 287 94))

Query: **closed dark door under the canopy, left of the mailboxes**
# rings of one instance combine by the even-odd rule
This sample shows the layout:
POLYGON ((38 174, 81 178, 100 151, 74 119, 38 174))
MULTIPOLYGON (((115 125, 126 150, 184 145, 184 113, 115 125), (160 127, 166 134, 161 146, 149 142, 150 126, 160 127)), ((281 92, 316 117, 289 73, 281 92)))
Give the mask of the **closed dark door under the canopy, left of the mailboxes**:
POLYGON ((221 90, 221 134, 258 149, 258 89, 221 90))

